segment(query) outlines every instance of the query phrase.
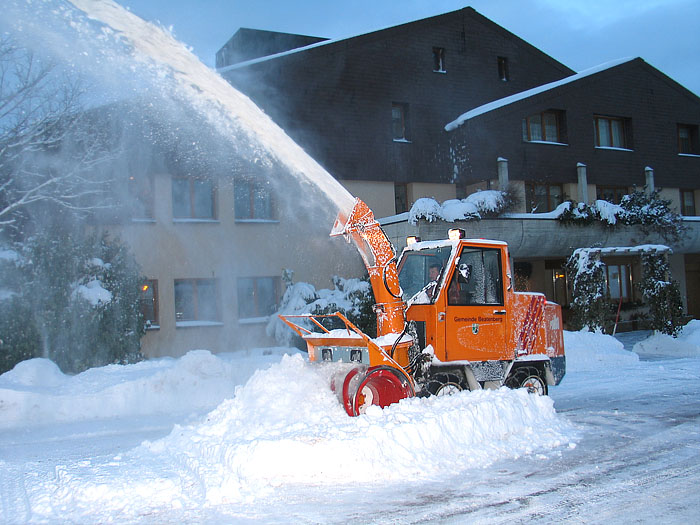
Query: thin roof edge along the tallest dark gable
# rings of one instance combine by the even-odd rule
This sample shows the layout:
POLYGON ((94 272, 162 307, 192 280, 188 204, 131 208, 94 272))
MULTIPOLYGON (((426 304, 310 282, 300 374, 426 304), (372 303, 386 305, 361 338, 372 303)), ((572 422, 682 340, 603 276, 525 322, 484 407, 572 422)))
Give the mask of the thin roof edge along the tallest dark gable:
POLYGON ((465 7, 463 9, 459 9, 457 11, 450 11, 448 13, 443 13, 441 15, 423 18, 420 20, 414 20, 412 22, 406 22, 404 24, 390 26, 390 27, 386 27, 383 29, 371 31, 369 33, 363 33, 363 34, 355 35, 355 36, 351 36, 351 37, 344 37, 344 38, 338 38, 338 39, 332 39, 332 40, 322 40, 322 41, 314 42, 314 43, 311 43, 311 44, 303 46, 303 47, 297 47, 295 49, 288 49, 288 50, 284 50, 284 51, 281 51, 279 53, 275 53, 275 54, 271 54, 271 55, 267 55, 267 56, 259 56, 258 58, 247 60, 245 62, 238 62, 238 63, 230 65, 230 66, 221 67, 221 68, 218 68, 218 71, 220 73, 225 73, 226 71, 230 71, 233 69, 243 68, 243 67, 250 66, 253 64, 258 64, 260 62, 266 62, 269 60, 278 59, 278 58, 281 58, 284 56, 289 56, 289 55, 296 54, 296 53, 302 53, 304 51, 308 51, 310 49, 314 49, 316 47, 321 47, 321 46, 327 46, 327 45, 333 46, 333 45, 336 45, 339 43, 343 43, 343 42, 347 43, 347 42, 350 42, 352 40, 359 40, 359 39, 374 40, 374 39, 379 39, 379 38, 386 38, 388 34, 403 33, 405 31, 410 31, 410 30, 414 29, 416 26, 434 24, 435 22, 439 21, 439 19, 441 19, 441 18, 451 18, 451 17, 457 16, 457 15, 469 17, 472 20, 474 20, 475 22, 486 25, 490 29, 497 31, 497 32, 501 33, 502 35, 505 35, 509 38, 513 38, 513 39, 518 40, 522 44, 524 44, 527 48, 529 48, 532 52, 537 53, 538 55, 546 58, 546 60, 550 61, 552 64, 560 67, 562 69, 562 71, 568 71, 568 72, 573 73, 573 70, 571 68, 569 68, 566 65, 562 64, 561 62, 555 60, 551 56, 547 55, 545 52, 536 48, 535 46, 533 46, 529 42, 523 40, 522 38, 515 35, 514 33, 511 33, 510 31, 508 31, 507 29, 498 25, 497 23, 493 22, 492 20, 489 20, 488 18, 483 16, 481 13, 479 13, 478 11, 476 11, 472 7, 465 7))

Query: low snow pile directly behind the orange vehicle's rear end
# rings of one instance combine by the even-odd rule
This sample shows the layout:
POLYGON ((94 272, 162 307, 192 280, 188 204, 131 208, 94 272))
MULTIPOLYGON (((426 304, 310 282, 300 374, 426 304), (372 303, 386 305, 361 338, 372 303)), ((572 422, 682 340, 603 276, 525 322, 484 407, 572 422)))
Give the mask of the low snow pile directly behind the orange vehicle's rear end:
POLYGON ((567 372, 595 372, 639 363, 636 353, 625 350, 624 345, 613 336, 600 332, 564 331, 564 351, 567 372))

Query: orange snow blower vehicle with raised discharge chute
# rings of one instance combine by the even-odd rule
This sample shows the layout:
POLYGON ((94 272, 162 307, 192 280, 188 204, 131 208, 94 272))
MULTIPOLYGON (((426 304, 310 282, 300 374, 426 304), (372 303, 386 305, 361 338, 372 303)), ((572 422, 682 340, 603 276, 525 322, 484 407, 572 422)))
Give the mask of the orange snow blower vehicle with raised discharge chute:
POLYGON ((341 313, 280 318, 306 341, 312 362, 345 363, 331 388, 348 415, 500 386, 545 395, 564 377, 561 307, 513 290, 506 243, 450 230, 446 240, 414 239, 397 261, 360 199, 336 219, 331 236, 339 235, 355 243, 369 272, 377 337, 341 313))

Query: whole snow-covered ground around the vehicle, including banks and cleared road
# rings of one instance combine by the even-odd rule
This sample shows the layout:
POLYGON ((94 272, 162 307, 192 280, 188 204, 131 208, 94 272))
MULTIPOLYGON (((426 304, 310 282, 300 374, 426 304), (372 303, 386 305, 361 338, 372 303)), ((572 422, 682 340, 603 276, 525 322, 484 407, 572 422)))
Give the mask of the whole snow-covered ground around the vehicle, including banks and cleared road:
POLYGON ((0 522, 697 522, 700 322, 635 353, 583 333, 566 349, 551 398, 358 418, 284 349, 75 377, 24 362, 0 376, 0 522))

